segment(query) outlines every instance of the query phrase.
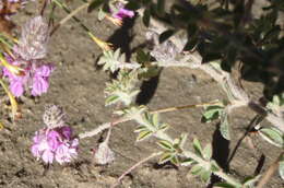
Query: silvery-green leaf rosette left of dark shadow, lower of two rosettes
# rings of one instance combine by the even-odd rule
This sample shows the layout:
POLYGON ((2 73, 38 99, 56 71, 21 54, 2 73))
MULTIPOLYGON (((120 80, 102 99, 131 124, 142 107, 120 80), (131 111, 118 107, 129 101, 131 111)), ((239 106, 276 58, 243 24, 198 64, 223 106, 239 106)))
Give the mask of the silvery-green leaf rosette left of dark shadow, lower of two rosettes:
POLYGON ((137 82, 137 71, 120 70, 117 79, 106 85, 106 105, 111 105, 118 102, 121 102, 126 106, 130 105, 140 92, 140 90, 135 89, 137 82))

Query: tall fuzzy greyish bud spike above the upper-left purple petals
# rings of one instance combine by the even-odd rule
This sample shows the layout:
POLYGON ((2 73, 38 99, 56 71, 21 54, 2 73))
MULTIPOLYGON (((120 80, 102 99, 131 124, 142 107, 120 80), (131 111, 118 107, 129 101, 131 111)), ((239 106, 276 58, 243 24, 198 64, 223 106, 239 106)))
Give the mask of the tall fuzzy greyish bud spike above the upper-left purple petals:
POLYGON ((47 52, 48 36, 48 24, 42 16, 36 16, 22 27, 15 51, 25 60, 43 59, 47 52))

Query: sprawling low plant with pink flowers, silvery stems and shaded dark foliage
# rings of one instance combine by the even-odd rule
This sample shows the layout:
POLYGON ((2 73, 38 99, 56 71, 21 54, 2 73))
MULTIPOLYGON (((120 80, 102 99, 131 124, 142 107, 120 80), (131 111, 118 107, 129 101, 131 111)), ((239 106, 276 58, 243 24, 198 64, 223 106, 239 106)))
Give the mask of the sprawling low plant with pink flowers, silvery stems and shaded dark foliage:
MULTIPOLYGON (((3 2, 13 5, 26 1, 3 2)), ((245 1, 222 3, 216 1, 212 5, 206 1, 193 0, 173 3, 165 0, 82 0, 82 5, 72 11, 62 0, 44 0, 42 15, 31 19, 22 27, 19 39, 11 34, 11 31, 0 27, 0 60, 3 67, 0 83, 10 98, 13 118, 19 113, 16 98, 29 93, 33 96, 47 93, 48 80, 55 70, 54 63, 44 60, 48 38, 71 19, 103 50, 97 64, 102 66, 105 72, 117 74, 106 83, 104 93, 106 106, 120 107, 113 111, 119 116, 117 120, 105 122, 94 130, 75 137, 71 127, 66 125, 62 109, 55 105, 48 106, 43 116, 46 127, 36 131, 31 149, 32 154, 47 164, 69 163, 78 157, 79 142, 108 129, 106 139, 94 153, 96 163, 106 165, 116 160, 109 146, 111 129, 119 124, 134 121, 137 126, 133 131, 137 133, 137 142, 154 138, 159 151, 126 171, 113 187, 118 186, 128 173, 153 157, 158 157, 161 164, 169 162, 176 166, 186 166, 191 174, 199 176, 206 184, 210 183, 212 175, 216 175, 223 181, 215 184, 215 187, 260 188, 268 183, 275 169, 279 169, 281 178, 284 179, 284 94, 281 85, 283 81, 281 51, 284 49, 284 43, 283 28, 276 23, 277 13, 283 12, 284 3, 271 1, 270 7, 263 8, 265 14, 253 17, 249 2, 253 3, 253 1, 246 3, 245 1), (166 5, 169 5, 169 9, 166 5), (47 7, 58 7, 68 15, 51 27, 44 19, 47 7), (76 13, 82 10, 87 12, 97 10, 99 21, 110 21, 116 26, 121 26, 125 19, 141 16, 147 27, 145 37, 151 47, 137 50, 133 56, 135 59, 127 60, 121 52, 122 49, 114 49, 111 44, 100 40, 83 24, 76 16, 76 13), (157 110, 138 105, 135 98, 141 92, 138 84, 156 77, 162 68, 171 67, 204 71, 220 84, 227 98, 157 110), (251 70, 255 72, 250 77, 257 77, 258 81, 265 85, 264 96, 268 97, 268 102, 264 105, 252 99, 241 86, 240 80, 249 80, 247 74, 251 70), (165 111, 193 107, 204 108, 203 122, 218 119, 220 132, 226 140, 232 138, 229 117, 234 115, 234 110, 239 107, 252 109, 258 114, 259 119, 271 122, 271 126, 262 126, 259 121, 253 130, 265 141, 280 148, 280 157, 263 175, 237 179, 222 169, 213 158, 211 144, 202 145, 199 139, 192 138, 190 133, 180 132, 179 137, 173 138, 169 133, 169 125, 159 116, 165 111)), ((7 7, 1 8, 1 11, 4 10, 7 7)), ((54 13, 51 11, 50 20, 54 13)), ((4 14, 10 16, 9 11, 4 14)))

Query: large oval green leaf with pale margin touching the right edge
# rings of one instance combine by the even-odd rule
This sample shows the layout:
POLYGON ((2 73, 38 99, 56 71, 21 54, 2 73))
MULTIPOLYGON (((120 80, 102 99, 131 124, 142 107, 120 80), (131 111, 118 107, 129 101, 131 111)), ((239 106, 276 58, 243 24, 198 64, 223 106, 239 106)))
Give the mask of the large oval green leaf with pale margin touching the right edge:
POLYGON ((259 130, 260 136, 267 140, 269 143, 276 145, 279 148, 283 148, 284 146, 284 136, 283 133, 274 128, 262 128, 259 130))

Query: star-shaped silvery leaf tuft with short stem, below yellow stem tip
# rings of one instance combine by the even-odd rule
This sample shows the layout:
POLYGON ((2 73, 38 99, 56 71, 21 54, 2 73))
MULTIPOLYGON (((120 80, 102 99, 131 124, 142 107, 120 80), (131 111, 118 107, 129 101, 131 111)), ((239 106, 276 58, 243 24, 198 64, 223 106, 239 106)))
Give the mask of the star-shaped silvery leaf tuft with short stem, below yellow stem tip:
POLYGON ((116 51, 105 50, 97 64, 104 66, 104 71, 109 70, 110 72, 119 69, 139 69, 141 67, 137 62, 126 62, 126 55, 120 52, 120 48, 116 51))

